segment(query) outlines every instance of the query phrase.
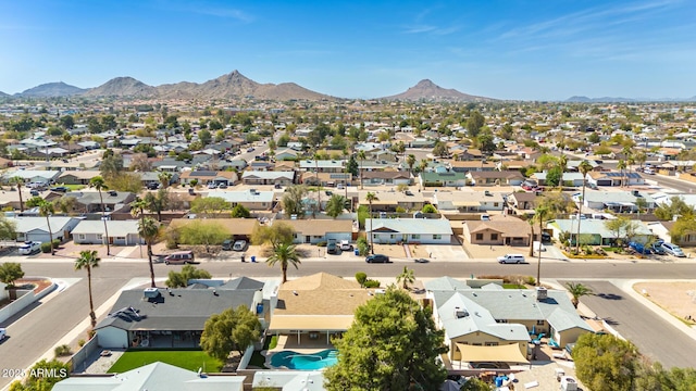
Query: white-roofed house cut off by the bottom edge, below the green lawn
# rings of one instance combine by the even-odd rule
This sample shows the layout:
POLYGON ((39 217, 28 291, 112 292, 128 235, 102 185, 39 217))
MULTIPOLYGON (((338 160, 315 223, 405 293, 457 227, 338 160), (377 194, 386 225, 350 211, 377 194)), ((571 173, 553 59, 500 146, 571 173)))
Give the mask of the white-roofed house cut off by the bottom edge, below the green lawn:
POLYGON ((53 391, 148 390, 148 391, 243 391, 245 376, 202 376, 165 363, 152 363, 123 374, 71 376, 59 381, 53 391))

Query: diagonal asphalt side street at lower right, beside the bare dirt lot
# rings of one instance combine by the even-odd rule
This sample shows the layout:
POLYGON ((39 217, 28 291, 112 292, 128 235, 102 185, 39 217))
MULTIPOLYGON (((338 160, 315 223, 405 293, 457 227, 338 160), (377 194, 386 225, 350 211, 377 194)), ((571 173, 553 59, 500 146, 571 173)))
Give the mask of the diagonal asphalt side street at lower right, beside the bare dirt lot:
POLYGON ((666 368, 696 367, 696 341, 608 281, 581 281, 595 295, 583 303, 666 368))

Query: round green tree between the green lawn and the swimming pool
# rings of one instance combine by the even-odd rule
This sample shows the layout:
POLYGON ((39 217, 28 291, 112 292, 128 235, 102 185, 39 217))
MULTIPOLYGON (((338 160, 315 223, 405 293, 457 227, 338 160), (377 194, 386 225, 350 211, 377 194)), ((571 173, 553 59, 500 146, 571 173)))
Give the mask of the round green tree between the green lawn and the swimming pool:
POLYGON ((244 305, 225 310, 206 320, 200 337, 200 348, 222 362, 233 350, 244 352, 261 338, 261 323, 254 313, 244 305))

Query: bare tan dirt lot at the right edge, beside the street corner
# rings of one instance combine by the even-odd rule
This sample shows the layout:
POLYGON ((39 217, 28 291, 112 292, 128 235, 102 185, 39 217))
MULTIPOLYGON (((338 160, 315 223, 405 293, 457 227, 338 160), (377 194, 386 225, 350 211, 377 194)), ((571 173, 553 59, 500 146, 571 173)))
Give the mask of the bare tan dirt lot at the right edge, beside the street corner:
POLYGON ((686 320, 687 316, 696 319, 696 282, 638 282, 633 289, 683 321, 696 325, 696 320, 686 320))

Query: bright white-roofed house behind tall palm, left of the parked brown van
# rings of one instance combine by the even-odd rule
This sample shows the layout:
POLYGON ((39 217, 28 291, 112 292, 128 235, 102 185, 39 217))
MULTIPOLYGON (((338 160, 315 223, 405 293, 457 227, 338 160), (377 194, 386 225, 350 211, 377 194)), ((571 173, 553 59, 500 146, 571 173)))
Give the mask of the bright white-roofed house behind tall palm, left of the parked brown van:
POLYGON ((82 220, 73 229, 73 241, 76 244, 104 244, 109 240, 112 245, 145 244, 138 235, 138 220, 105 220, 109 238, 104 239, 103 220, 82 220))

